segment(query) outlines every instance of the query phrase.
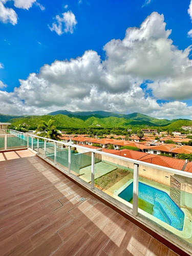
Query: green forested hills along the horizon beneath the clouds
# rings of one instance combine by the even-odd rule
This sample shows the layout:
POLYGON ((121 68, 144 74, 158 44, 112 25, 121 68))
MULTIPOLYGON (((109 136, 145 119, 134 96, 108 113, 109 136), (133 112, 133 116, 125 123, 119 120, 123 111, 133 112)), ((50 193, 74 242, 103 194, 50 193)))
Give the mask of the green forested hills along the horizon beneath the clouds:
POLYGON ((140 128, 146 128, 148 126, 151 129, 159 127, 161 130, 173 132, 180 131, 182 125, 192 125, 192 121, 187 119, 167 120, 146 116, 140 113, 124 115, 106 111, 70 112, 64 110, 42 116, 9 116, 0 114, 1 122, 9 121, 14 126, 25 123, 29 125, 30 130, 35 130, 40 120, 48 122, 49 119, 53 119, 55 126, 60 130, 69 127, 100 127, 113 129, 114 127, 126 128, 127 126, 138 126, 140 128))

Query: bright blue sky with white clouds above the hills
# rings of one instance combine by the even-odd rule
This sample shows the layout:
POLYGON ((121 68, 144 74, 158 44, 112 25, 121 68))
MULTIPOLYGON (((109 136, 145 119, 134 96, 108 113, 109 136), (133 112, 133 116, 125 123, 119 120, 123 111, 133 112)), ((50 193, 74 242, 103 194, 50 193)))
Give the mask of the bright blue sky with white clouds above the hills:
POLYGON ((192 0, 0 0, 0 113, 192 119, 192 0))

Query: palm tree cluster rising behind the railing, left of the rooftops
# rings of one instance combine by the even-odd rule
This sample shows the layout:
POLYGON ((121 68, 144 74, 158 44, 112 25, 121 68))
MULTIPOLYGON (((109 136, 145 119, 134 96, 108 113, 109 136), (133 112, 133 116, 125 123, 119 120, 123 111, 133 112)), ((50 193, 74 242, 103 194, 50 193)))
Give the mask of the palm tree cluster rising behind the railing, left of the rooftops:
POLYGON ((41 120, 35 131, 36 134, 38 134, 40 137, 45 137, 52 140, 59 140, 61 134, 58 132, 53 123, 54 120, 51 119, 48 122, 41 120))

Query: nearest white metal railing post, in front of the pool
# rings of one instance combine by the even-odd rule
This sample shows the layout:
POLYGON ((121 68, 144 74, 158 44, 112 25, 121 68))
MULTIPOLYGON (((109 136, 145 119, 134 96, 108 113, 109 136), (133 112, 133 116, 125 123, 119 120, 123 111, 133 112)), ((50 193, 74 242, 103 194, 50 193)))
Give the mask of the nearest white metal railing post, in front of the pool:
POLYGON ((138 215, 139 164, 134 163, 133 170, 133 215, 138 215))

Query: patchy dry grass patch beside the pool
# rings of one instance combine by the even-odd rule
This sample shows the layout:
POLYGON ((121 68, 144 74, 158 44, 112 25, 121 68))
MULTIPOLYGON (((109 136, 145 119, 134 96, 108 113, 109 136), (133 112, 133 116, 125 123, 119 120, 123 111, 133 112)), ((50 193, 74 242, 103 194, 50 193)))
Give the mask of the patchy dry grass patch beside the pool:
POLYGON ((129 173, 129 170, 117 168, 113 170, 111 173, 105 174, 102 177, 95 179, 95 184, 101 187, 102 189, 108 189, 115 183, 120 181, 122 178, 127 176, 129 173))

